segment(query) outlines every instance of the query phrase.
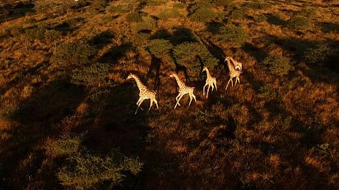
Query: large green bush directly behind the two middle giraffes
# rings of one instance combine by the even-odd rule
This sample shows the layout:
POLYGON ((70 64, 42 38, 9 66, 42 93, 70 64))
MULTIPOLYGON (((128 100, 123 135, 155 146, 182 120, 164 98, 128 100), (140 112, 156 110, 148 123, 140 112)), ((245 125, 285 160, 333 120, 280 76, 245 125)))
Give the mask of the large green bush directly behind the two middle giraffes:
POLYGON ((218 65, 216 59, 205 46, 196 42, 185 42, 174 47, 174 58, 179 65, 185 65, 189 72, 198 77, 201 72, 201 63, 196 56, 199 56, 203 64, 209 68, 218 65))

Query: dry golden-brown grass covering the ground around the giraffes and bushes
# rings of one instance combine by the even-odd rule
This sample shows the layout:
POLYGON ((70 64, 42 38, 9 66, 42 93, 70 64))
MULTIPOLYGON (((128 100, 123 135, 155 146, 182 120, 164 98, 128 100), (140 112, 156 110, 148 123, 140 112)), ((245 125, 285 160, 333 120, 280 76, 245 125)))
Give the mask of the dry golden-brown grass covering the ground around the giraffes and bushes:
MULTIPOLYGON (((234 2, 240 6, 248 3, 234 2)), ((127 13, 93 14, 88 6, 54 19, 43 20, 42 13, 35 13, 1 22, 0 61, 10 61, 8 67, 0 65, 3 188, 63 188, 55 174, 66 161, 51 154, 48 147, 61 136, 85 132, 84 146, 96 154, 119 148, 144 162, 143 173, 127 178, 123 188, 338 189, 338 66, 309 65, 303 53, 317 43, 338 48, 339 2, 333 1, 333 6, 320 0, 267 2, 270 8, 248 8, 246 16, 232 24, 218 22, 244 28, 249 39, 241 47, 214 41, 215 31, 206 23, 190 21, 185 8, 178 9, 181 17, 160 19, 149 32, 138 34, 133 30, 135 23, 125 21, 127 13), (304 8, 317 8, 311 26, 302 32, 287 28, 285 23, 304 8), (274 13, 280 17, 269 16, 274 13), (265 15, 267 21, 251 19, 259 15, 265 15), (105 20, 107 16, 114 18, 105 20), (14 26, 61 25, 78 17, 84 22, 63 31, 56 46, 94 41, 91 45, 96 52, 90 62, 110 65, 105 83, 97 86, 72 84, 75 68, 50 62, 52 43, 23 41, 23 34, 6 32, 14 26), (33 18, 36 23, 26 21, 33 18), (188 73, 191 81, 186 82, 195 87, 197 101, 188 107, 185 95, 181 106, 173 109, 178 94, 174 78, 169 77, 175 72, 174 61, 166 55, 158 63, 146 47, 162 30, 166 32, 163 38, 181 40, 183 34, 177 34, 177 28, 189 31, 189 37, 203 43, 220 61, 226 55, 242 61, 240 85, 225 90, 229 76, 222 62, 220 67, 209 68, 217 78, 218 92, 207 99, 202 92, 205 81, 188 73), (276 76, 264 70, 261 61, 269 55, 287 57, 293 62, 291 72, 276 76), (156 91, 159 110, 152 107, 148 114, 139 110, 134 116, 138 90, 134 81, 125 80, 130 72, 156 91), (274 92, 263 92, 264 86, 274 92)), ((144 6, 141 11, 144 17, 156 17, 173 6, 169 1, 144 6)), ((185 81, 185 74, 178 74, 185 81)), ((149 101, 144 101, 142 107, 148 106, 149 101)))

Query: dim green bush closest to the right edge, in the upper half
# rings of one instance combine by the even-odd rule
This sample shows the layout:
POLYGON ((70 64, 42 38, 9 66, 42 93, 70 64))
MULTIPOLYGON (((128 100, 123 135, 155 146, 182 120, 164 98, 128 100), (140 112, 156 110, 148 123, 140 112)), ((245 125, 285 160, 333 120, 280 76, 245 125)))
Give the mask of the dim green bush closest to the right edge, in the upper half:
POLYGON ((318 44, 316 47, 309 48, 305 51, 305 59, 311 64, 323 65, 329 61, 329 56, 333 50, 327 44, 318 44))

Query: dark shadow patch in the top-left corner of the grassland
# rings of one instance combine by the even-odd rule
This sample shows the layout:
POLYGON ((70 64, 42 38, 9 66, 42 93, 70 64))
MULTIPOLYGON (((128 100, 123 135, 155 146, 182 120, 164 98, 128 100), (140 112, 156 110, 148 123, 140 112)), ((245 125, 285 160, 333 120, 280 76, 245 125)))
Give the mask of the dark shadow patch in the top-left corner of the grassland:
POLYGON ((12 6, 6 5, 0 7, 0 23, 12 21, 24 17, 26 13, 34 13, 34 3, 32 2, 17 2, 12 6))

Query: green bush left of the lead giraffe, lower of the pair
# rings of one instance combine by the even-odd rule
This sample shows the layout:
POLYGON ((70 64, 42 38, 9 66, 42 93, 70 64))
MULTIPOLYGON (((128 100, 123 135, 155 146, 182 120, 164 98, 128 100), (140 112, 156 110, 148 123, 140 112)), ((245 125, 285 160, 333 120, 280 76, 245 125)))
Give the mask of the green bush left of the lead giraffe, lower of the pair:
POLYGON ((76 69, 72 74, 71 83, 83 86, 97 86, 106 83, 110 65, 106 63, 95 63, 93 65, 76 69))

